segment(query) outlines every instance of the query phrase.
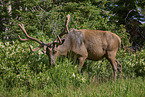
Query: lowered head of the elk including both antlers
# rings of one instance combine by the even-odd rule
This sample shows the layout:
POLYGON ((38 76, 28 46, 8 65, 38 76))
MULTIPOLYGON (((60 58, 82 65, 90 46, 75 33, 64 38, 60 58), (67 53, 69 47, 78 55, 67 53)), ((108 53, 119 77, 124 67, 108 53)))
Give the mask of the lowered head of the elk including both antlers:
POLYGON ((54 65, 56 57, 57 57, 58 46, 63 43, 62 39, 60 37, 62 37, 63 35, 69 33, 69 30, 68 30, 69 19, 70 19, 70 15, 68 14, 64 30, 59 35, 57 35, 57 38, 53 42, 45 43, 45 42, 42 42, 42 41, 38 40, 37 38, 30 37, 28 35, 28 33, 26 32, 25 27, 24 27, 23 24, 19 24, 19 26, 23 30, 23 32, 26 35, 27 39, 22 39, 19 35, 18 35, 18 37, 19 37, 19 39, 21 41, 31 40, 31 41, 35 41, 35 42, 39 43, 40 45, 37 48, 35 48, 35 49, 33 49, 33 47, 31 45, 29 45, 30 46, 30 50, 32 52, 34 52, 34 51, 39 50, 40 48, 43 48, 44 50, 42 50, 42 52, 46 53, 48 55, 48 57, 49 57, 49 64, 51 65, 51 63, 53 62, 53 65, 54 65))

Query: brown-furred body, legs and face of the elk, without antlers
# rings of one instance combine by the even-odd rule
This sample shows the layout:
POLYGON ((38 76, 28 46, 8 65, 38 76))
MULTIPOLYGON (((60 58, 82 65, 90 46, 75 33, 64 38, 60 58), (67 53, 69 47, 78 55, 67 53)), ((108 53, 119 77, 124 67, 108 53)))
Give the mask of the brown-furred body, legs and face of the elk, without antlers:
POLYGON ((68 34, 64 35, 62 40, 64 42, 61 45, 53 45, 50 47, 53 49, 48 47, 46 51, 48 56, 52 59, 53 64, 55 64, 55 60, 58 56, 67 55, 67 53, 71 51, 76 54, 79 59, 79 72, 81 72, 85 59, 97 61, 105 57, 113 67, 116 81, 117 67, 115 65, 115 57, 121 45, 119 36, 109 31, 72 29, 68 34), (81 37, 78 32, 81 32, 83 37, 81 37), (81 41, 81 43, 78 43, 78 41, 81 41))

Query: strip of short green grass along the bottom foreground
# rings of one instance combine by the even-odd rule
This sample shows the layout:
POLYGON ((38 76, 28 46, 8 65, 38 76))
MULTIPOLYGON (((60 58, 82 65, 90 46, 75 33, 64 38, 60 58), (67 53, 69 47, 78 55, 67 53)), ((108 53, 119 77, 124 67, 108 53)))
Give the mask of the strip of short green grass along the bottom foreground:
POLYGON ((1 86, 0 97, 145 97, 145 81, 141 77, 119 79, 116 83, 114 81, 88 82, 80 86, 74 86, 72 83, 66 87, 52 85, 45 86, 43 89, 27 89, 24 86, 8 90, 1 86))

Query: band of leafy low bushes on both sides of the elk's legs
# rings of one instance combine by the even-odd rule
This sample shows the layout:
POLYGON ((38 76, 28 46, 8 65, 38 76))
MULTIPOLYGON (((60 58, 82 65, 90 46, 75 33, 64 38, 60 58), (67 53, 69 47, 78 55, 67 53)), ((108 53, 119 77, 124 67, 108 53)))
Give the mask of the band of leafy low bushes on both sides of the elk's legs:
MULTIPOLYGON (((69 84, 80 86, 90 82, 90 78, 94 81, 113 79, 112 67, 106 59, 96 62, 86 60, 82 74, 79 74, 78 64, 72 64, 67 58, 60 58, 55 68, 49 66, 47 55, 41 51, 30 52, 29 43, 16 41, 12 44, 0 44, 0 82, 5 87, 67 87, 69 84)), ((144 52, 118 52, 117 59, 122 64, 124 78, 144 76, 144 52)))

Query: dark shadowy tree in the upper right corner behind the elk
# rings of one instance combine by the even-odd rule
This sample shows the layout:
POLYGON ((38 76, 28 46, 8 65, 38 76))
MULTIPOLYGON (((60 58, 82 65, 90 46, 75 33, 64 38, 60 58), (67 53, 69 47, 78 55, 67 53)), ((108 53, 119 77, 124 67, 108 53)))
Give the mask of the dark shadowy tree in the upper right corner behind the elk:
POLYGON ((145 21, 144 4, 143 0, 115 0, 106 5, 106 8, 112 10, 114 14, 110 21, 126 26, 126 30, 130 34, 130 42, 134 49, 138 50, 144 47, 145 33, 142 27, 142 23, 145 21))

